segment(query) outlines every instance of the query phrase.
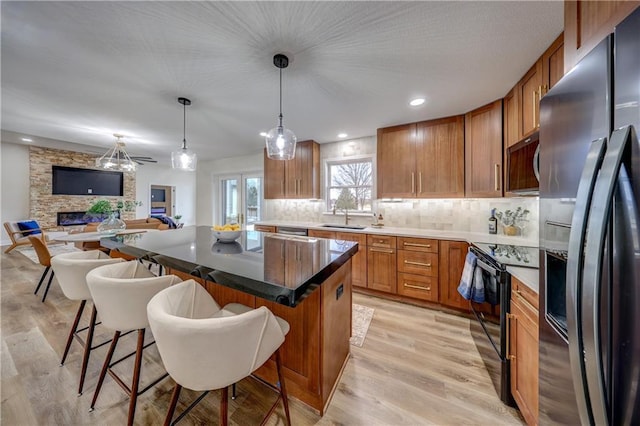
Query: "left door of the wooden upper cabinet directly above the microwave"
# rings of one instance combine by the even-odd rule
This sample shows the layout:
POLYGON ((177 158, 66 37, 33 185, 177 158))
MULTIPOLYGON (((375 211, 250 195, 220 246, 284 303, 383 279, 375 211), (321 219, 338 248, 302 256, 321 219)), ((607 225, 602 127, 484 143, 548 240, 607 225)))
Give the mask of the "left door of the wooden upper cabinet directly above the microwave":
POLYGON ((542 59, 527 71, 520 82, 516 85, 518 88, 518 102, 520 104, 520 123, 518 123, 521 131, 521 137, 527 136, 540 126, 539 103, 542 87, 542 59))

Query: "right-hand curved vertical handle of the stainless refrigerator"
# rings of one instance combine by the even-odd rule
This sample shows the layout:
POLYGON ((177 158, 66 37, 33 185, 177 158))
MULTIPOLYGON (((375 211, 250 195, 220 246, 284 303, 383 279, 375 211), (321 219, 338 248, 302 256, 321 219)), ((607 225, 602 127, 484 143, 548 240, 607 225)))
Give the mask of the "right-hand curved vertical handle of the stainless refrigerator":
POLYGON ((613 193, 622 165, 622 157, 632 134, 633 128, 631 126, 621 127, 611 134, 609 148, 593 191, 593 198, 598 202, 591 206, 592 212, 587 223, 588 239, 583 277, 582 334, 591 413, 593 423, 597 425, 610 423, 604 386, 603 360, 600 351, 602 262, 607 224, 612 212, 613 193))

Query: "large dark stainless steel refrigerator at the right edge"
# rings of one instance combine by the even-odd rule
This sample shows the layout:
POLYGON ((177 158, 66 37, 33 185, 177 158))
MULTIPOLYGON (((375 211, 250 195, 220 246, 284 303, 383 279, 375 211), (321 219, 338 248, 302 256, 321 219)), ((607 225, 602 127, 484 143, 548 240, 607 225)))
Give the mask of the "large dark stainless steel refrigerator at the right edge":
POLYGON ((640 8, 540 103, 540 424, 640 424, 640 8))

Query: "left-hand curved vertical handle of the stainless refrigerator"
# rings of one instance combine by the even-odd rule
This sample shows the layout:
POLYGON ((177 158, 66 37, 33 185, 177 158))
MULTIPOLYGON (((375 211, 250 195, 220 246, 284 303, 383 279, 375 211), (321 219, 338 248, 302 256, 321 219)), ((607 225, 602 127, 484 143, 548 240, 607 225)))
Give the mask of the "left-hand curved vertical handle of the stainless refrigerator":
POLYGON ((576 393, 576 403, 582 424, 593 424, 589 403, 589 392, 586 381, 584 363, 584 346, 582 337, 582 265, 584 263, 584 243, 587 229, 587 219, 593 196, 598 170, 602 165, 606 148, 606 138, 591 142, 587 159, 576 194, 576 205, 571 219, 569 234, 569 250, 566 275, 566 303, 567 303, 567 335, 569 341, 569 359, 571 360, 571 375, 576 393))

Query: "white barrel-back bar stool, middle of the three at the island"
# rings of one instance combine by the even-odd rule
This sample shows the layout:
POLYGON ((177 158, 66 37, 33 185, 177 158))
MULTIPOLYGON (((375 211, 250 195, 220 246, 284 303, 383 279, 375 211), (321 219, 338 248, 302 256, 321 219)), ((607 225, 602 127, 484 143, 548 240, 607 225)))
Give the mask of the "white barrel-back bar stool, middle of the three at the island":
POLYGON ((93 297, 93 303, 96 305, 98 312, 100 312, 102 325, 115 332, 100 372, 100 378, 98 379, 93 399, 91 400, 91 410, 95 407, 100 389, 104 383, 104 378, 106 374, 109 373, 129 396, 127 424, 132 425, 138 396, 167 377, 165 373, 153 380, 151 384, 147 385, 144 389, 139 390, 142 351, 153 343, 144 344, 145 328, 149 326, 147 303, 159 291, 181 281, 182 280, 175 275, 156 276, 137 260, 101 266, 87 274, 87 285, 89 286, 91 297, 93 297), (135 352, 112 362, 111 360, 122 336, 122 332, 131 330, 138 331, 138 342, 135 352), (133 379, 131 386, 127 386, 124 381, 115 374, 112 367, 134 354, 136 358, 134 361, 133 379))

